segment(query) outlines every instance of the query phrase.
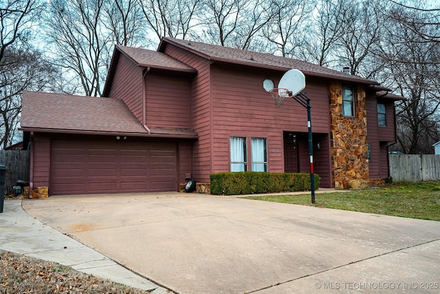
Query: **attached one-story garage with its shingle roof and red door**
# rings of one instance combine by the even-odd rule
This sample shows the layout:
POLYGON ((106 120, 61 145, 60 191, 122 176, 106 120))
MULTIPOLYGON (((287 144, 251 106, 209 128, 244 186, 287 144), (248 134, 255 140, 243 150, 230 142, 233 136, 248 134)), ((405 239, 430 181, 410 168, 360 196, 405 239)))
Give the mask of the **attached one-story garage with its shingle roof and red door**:
POLYGON ((21 129, 30 189, 50 196, 177 191, 198 139, 191 129, 141 125, 116 98, 39 92, 23 93, 21 129))

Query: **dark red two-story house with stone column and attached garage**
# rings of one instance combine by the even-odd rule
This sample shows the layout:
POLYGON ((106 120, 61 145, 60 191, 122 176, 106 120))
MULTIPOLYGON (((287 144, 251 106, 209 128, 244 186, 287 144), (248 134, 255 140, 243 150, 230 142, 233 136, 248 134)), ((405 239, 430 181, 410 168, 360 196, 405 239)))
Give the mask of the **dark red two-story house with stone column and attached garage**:
POLYGON ((116 45, 105 97, 23 93, 33 187, 50 195, 176 191, 221 171, 309 172, 307 112, 263 83, 306 76, 321 187, 388 176, 400 96, 359 76, 272 54, 163 38, 116 45))

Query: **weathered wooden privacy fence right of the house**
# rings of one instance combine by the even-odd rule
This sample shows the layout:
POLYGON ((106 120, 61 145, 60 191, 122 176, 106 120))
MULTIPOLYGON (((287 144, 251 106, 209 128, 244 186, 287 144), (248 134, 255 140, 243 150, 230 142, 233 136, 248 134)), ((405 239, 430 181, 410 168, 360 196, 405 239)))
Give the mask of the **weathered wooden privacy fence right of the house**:
POLYGON ((389 154, 388 158, 394 182, 440 180, 440 155, 389 154))

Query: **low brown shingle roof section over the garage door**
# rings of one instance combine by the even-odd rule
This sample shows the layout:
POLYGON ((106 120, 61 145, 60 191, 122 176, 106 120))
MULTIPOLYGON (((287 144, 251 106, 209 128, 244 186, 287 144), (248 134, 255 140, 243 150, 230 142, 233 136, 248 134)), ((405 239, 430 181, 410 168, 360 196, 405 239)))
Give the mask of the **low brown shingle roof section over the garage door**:
POLYGON ((197 138, 190 129, 151 130, 148 134, 117 98, 23 92, 21 130, 70 134, 126 134, 197 138))

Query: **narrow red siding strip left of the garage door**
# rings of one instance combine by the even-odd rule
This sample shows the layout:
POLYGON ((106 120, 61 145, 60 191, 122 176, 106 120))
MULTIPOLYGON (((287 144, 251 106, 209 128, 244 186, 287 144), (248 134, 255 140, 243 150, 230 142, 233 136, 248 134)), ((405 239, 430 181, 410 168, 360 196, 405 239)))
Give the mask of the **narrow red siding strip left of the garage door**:
POLYGON ((49 187, 50 178, 50 137, 45 134, 34 134, 32 142, 34 163, 32 181, 34 187, 49 187))

